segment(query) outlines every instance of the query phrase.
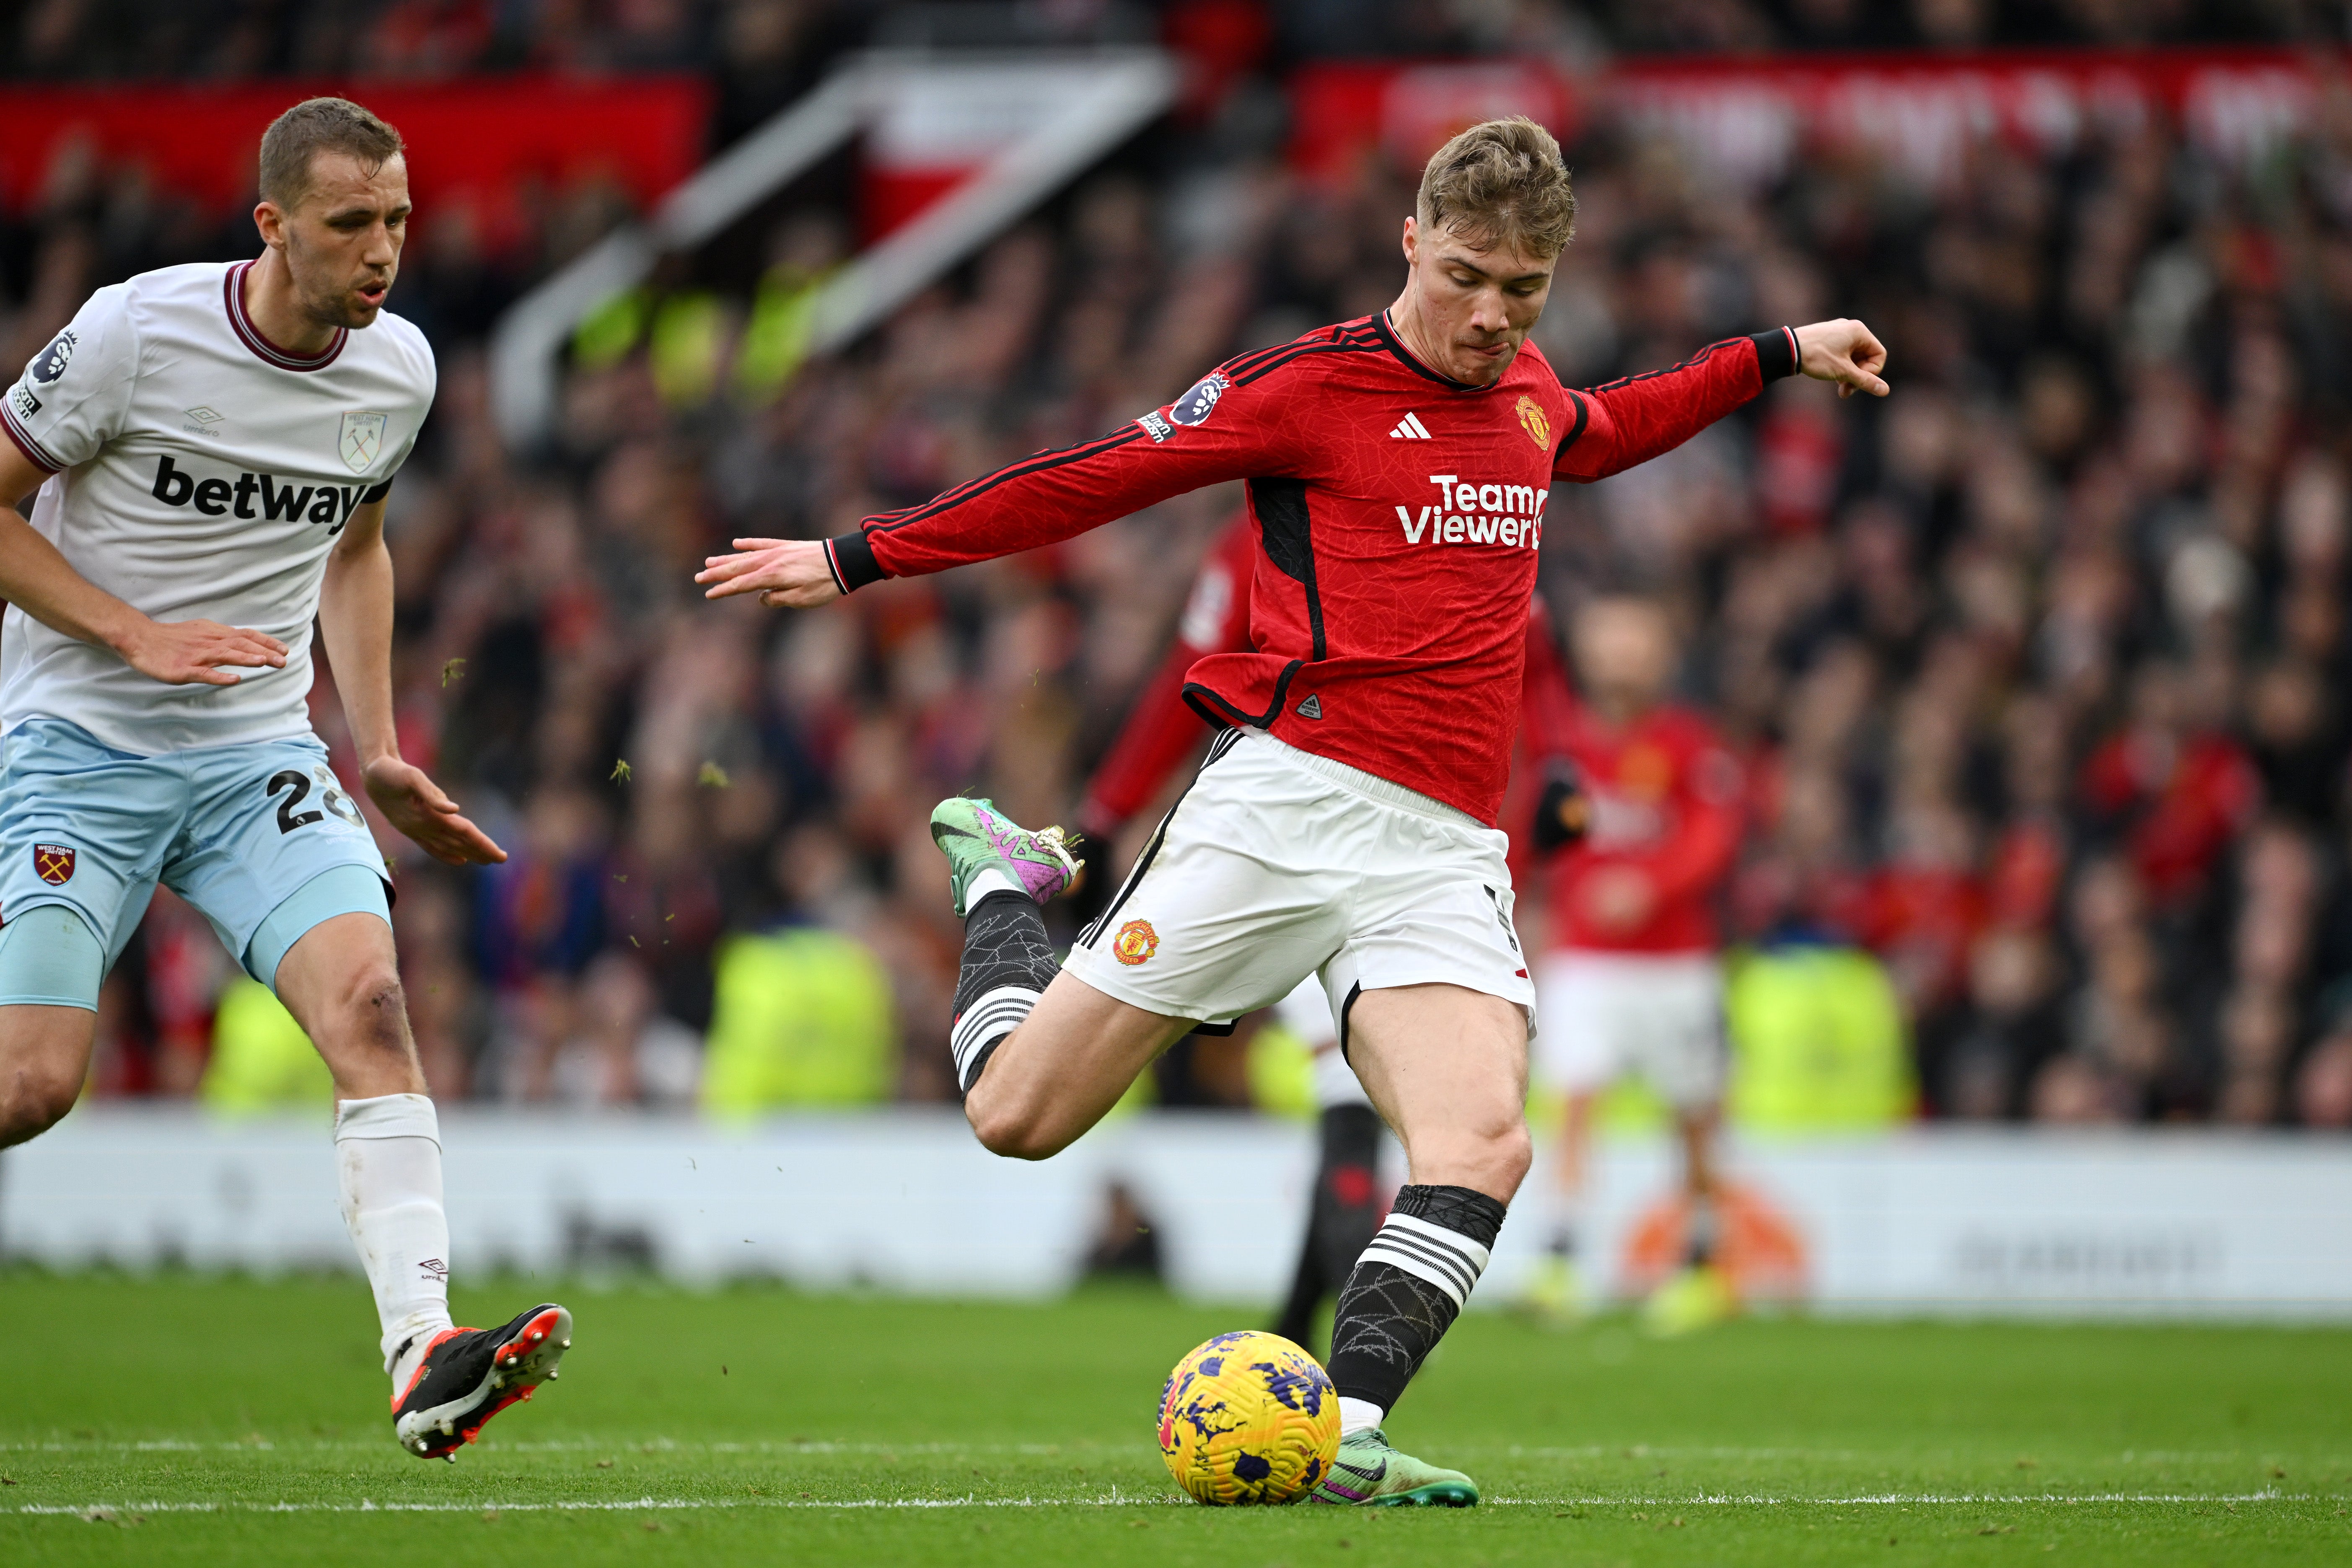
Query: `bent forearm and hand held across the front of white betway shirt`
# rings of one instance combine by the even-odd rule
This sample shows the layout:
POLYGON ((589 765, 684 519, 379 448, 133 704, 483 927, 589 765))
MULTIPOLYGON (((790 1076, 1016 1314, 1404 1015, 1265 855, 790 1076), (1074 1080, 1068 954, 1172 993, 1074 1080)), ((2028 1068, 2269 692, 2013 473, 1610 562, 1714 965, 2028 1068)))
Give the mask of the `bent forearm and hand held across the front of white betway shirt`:
POLYGON ((169 686, 235 686, 221 665, 282 668, 287 644, 219 621, 151 621, 106 592, 33 531, 14 508, 49 475, 14 444, 0 442, 0 599, 16 604, 49 630, 113 649, 122 661, 169 686))

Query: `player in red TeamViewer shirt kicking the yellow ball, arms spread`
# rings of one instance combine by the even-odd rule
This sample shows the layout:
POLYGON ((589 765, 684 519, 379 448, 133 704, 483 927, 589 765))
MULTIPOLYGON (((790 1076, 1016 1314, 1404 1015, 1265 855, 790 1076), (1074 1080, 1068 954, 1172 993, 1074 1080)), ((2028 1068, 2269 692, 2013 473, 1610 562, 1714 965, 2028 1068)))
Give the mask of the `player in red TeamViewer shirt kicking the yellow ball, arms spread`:
POLYGON ((1552 482, 1653 458, 1773 376, 1886 390, 1886 350, 1851 320, 1564 388, 1526 331, 1573 216, 1543 127, 1475 125, 1423 172, 1388 310, 1228 360, 1101 440, 856 534, 736 541, 696 578, 713 597, 826 604, 1247 480, 1254 646, 1202 658, 1183 689, 1223 733, 1068 964, 1037 907, 1068 886, 1058 830, 948 799, 931 837, 964 917, 948 1046, 997 1154, 1061 1152, 1192 1027, 1322 978, 1409 1161, 1338 1298, 1343 1436, 1322 1502, 1477 1502, 1468 1476, 1390 1448, 1381 1420, 1477 1284, 1531 1161, 1536 992, 1494 820, 1552 482))

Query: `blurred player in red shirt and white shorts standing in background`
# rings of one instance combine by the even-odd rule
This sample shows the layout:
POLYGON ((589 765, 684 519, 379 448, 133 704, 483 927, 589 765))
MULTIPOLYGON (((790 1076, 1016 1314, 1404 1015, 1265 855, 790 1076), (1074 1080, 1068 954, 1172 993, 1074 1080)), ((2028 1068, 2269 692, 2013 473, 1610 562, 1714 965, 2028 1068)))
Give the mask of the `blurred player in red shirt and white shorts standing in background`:
POLYGON ((1583 785, 1557 820, 1557 785, 1538 811, 1550 865, 1550 952, 1536 961, 1543 1034, 1534 1072, 1566 1095, 1555 1166, 1559 1213, 1529 1302, 1543 1316, 1585 1309, 1576 1246, 1592 1164, 1592 1107, 1625 1077, 1675 1112, 1689 1204, 1686 1262, 1649 1298, 1656 1333, 1726 1316, 1736 1300, 1715 1267, 1715 1135, 1724 1095, 1724 976, 1715 898, 1740 842, 1740 766, 1708 722, 1665 691, 1675 630, 1663 604, 1604 597, 1576 614, 1581 691, 1534 689, 1538 745, 1583 785), (1550 818, 1545 816, 1550 813, 1550 818), (1583 827, 1581 839, 1569 827, 1583 827))

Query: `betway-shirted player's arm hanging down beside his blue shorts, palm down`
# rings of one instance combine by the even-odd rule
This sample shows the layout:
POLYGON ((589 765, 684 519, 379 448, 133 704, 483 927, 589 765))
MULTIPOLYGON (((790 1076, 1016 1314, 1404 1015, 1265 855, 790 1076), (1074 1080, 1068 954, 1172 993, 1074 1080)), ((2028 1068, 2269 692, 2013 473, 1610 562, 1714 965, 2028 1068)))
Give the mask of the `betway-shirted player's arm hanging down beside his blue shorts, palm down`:
POLYGON ((506 851, 459 816, 456 802, 421 766, 400 757, 400 731, 393 724, 393 555, 383 548, 381 501, 353 512, 327 555, 318 635, 327 644, 334 689, 360 748, 360 778, 376 811, 435 860, 503 860, 506 851))

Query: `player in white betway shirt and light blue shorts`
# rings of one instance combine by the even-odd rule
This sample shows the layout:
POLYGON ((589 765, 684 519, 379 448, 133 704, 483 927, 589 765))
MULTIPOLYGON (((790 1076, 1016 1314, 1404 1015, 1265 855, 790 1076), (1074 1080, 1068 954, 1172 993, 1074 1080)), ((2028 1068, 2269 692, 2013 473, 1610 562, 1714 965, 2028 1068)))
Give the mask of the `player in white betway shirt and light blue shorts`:
POLYGON ((261 139, 259 261, 99 289, 0 395, 0 1147, 89 1072, 99 983, 155 884, 212 922, 334 1072, 336 1175, 393 1429, 456 1458, 555 1378, 572 1314, 449 1321, 440 1126, 409 1039, 386 860, 310 733, 310 623, 376 809, 452 865, 503 860, 393 731, 383 498, 433 350, 383 313, 400 134, 310 99, 261 139))

